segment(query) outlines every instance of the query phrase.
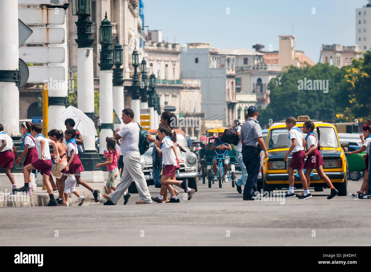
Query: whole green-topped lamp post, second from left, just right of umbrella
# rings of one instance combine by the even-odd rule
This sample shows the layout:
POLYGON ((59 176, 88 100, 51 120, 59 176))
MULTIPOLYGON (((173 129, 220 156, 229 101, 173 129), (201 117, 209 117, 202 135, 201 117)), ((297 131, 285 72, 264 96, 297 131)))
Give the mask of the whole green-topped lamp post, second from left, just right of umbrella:
MULTIPOLYGON (((107 12, 99 27, 99 43, 102 46, 99 71, 99 142, 104 145, 106 137, 113 137, 113 92, 112 92, 112 26, 107 19, 107 12)), ((103 159, 105 148, 99 148, 103 159)))

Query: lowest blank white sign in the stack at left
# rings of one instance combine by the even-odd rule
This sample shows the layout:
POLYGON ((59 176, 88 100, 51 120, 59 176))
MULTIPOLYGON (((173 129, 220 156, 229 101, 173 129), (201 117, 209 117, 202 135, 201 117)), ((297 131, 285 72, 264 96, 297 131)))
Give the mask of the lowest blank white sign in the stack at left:
POLYGON ((50 81, 50 78, 55 81, 64 82, 65 68, 63 66, 28 66, 30 76, 27 82, 43 83, 50 81))

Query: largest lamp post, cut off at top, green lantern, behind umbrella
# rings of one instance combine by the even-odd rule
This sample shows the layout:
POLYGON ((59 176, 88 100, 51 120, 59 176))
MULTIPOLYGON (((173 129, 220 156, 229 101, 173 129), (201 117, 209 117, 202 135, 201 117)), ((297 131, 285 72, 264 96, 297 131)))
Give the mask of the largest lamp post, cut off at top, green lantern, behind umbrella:
MULTIPOLYGON (((90 0, 72 0, 72 14, 77 15, 77 79, 78 108, 95 122, 94 110, 94 74, 92 22, 90 21, 90 0)), ((103 178, 101 169, 96 164, 101 162, 95 150, 95 135, 84 135, 85 152, 80 155, 85 171, 81 173, 84 181, 94 181, 103 178)))

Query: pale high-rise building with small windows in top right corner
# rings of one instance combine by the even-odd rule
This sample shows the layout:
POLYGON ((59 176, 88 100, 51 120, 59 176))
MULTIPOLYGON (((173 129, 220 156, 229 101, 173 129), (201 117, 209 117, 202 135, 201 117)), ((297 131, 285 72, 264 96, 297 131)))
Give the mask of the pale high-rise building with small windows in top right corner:
POLYGON ((371 50, 371 0, 360 9, 355 9, 355 45, 362 52, 371 50))

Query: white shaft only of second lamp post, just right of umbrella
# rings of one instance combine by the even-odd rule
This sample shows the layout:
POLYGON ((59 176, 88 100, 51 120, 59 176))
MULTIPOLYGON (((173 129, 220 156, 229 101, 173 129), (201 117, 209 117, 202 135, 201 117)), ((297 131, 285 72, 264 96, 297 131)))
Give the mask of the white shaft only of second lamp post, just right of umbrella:
MULTIPOLYGON (((112 70, 99 72, 99 119, 102 124, 111 124, 113 121, 112 75, 112 70)), ((113 137, 113 131, 103 128, 99 132, 99 154, 106 150, 106 137, 113 137)))

